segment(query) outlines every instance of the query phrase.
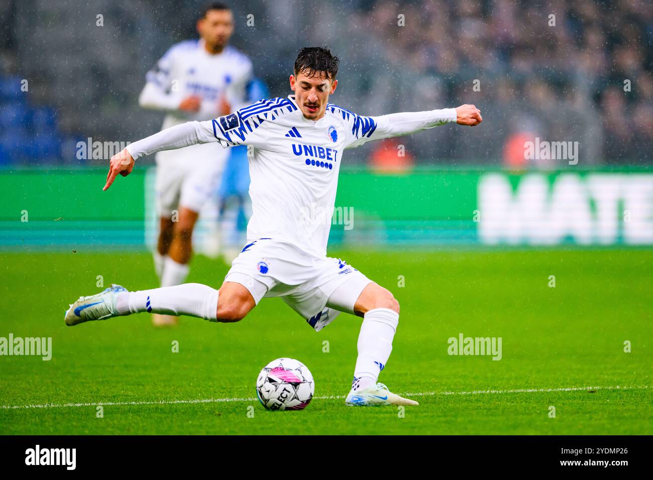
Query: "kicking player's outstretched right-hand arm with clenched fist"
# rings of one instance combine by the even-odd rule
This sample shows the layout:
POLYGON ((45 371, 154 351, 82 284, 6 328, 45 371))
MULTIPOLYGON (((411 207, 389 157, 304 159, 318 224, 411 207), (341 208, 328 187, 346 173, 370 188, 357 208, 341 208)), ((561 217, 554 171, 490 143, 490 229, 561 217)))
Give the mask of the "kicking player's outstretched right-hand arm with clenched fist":
POLYGON ((355 116, 351 120, 350 142, 347 148, 355 148, 381 138, 404 136, 431 129, 447 123, 474 127, 483 121, 481 110, 464 104, 456 108, 427 110, 425 112, 401 112, 377 117, 355 116))

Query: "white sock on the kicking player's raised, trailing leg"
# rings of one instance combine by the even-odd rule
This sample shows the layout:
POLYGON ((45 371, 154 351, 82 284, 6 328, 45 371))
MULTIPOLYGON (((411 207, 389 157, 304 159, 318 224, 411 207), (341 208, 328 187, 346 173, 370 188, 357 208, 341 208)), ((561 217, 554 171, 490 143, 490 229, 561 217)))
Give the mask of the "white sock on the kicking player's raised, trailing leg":
POLYGON ((217 297, 218 291, 207 285, 184 283, 172 287, 119 293, 116 310, 119 315, 148 312, 190 315, 217 321, 217 297))

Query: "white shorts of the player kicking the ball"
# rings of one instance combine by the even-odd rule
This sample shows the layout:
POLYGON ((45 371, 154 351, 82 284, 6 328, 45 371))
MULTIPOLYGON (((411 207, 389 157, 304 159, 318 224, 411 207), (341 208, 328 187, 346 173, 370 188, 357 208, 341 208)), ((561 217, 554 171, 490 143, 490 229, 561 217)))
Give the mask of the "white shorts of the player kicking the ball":
POLYGON ((372 282, 341 259, 310 255, 272 238, 248 243, 232 262, 225 281, 246 287, 257 304, 264 296, 281 296, 315 330, 340 312, 353 313, 358 296, 372 282), (329 297, 344 283, 347 298, 340 296, 338 305, 328 307, 329 297))

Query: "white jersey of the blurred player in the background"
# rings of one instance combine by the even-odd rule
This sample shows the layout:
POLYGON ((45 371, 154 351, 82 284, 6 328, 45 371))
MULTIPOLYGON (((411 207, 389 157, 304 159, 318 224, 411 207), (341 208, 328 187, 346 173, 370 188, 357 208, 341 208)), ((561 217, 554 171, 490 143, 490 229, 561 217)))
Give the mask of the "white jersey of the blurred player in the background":
POLYGON ((185 40, 170 47, 148 72, 140 104, 168 110, 164 129, 189 120, 208 120, 219 114, 222 96, 232 111, 248 103, 247 83, 252 75, 251 61, 236 48, 227 46, 219 54, 209 54, 204 40, 185 40), (202 97, 199 112, 177 110, 191 95, 202 97))

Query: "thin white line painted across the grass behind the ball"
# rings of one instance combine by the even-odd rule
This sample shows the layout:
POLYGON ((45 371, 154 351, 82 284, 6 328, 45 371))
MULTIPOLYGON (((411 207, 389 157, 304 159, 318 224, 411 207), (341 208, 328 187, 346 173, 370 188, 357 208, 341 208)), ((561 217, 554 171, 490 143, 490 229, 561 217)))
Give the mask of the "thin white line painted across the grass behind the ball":
MULTIPOLYGON (((589 390, 645 390, 653 388, 651 385, 640 387, 562 387, 556 389, 515 389, 515 390, 475 390, 469 392, 417 392, 402 393, 406 396, 435 396, 435 395, 479 395, 503 393, 537 393, 537 392, 575 392, 589 390)), ((345 396, 325 395, 315 396, 318 400, 336 400, 345 396)), ((184 404, 214 404, 219 402, 256 402, 256 397, 249 398, 198 398, 195 400, 159 400, 158 402, 95 402, 80 404, 36 404, 36 405, 1 405, 0 409, 27 409, 27 408, 70 408, 70 407, 96 407, 96 406, 138 406, 138 405, 184 405, 184 404)))

